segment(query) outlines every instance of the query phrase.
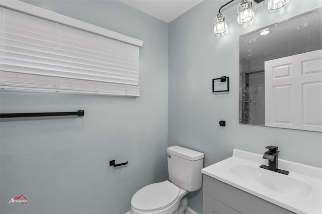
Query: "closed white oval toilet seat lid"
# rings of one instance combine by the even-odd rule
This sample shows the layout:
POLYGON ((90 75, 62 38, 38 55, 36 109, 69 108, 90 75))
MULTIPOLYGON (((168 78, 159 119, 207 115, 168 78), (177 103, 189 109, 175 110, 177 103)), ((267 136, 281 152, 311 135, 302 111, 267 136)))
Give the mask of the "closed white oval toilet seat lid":
POLYGON ((132 197, 131 205, 141 211, 156 211, 170 206, 179 197, 179 187, 164 181, 152 183, 138 190, 132 197))

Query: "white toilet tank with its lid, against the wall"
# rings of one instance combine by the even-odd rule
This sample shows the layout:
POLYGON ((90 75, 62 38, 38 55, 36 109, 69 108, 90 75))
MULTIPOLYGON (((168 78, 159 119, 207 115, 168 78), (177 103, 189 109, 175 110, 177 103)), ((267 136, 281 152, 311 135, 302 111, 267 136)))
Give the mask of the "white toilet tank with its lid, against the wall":
POLYGON ((204 154, 180 146, 169 147, 167 153, 169 179, 189 192, 200 189, 204 154))

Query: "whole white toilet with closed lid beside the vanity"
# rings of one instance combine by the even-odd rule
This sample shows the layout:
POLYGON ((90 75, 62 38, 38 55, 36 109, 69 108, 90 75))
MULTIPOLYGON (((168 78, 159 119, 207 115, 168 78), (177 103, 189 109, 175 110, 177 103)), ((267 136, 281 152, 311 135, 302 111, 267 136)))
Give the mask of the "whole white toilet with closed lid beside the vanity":
POLYGON ((167 149, 170 181, 152 183, 131 200, 131 214, 183 214, 186 194, 201 188, 204 154, 180 146, 167 149))

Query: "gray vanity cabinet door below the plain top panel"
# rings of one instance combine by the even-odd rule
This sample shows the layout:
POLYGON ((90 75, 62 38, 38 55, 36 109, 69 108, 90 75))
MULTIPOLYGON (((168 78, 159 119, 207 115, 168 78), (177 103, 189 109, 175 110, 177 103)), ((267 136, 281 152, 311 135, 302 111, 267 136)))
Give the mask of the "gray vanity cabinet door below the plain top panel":
POLYGON ((203 193, 203 214, 240 214, 229 206, 220 203, 209 195, 203 193))

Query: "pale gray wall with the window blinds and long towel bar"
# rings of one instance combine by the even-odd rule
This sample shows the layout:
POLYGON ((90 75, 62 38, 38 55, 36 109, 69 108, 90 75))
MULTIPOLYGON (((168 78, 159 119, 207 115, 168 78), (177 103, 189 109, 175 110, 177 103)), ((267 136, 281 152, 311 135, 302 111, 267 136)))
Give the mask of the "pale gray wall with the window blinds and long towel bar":
POLYGON ((1 113, 85 110, 2 120, 1 213, 125 213, 139 188, 168 178, 168 24, 116 1, 28 3, 143 40, 141 97, 1 92, 1 113), (21 194, 27 205, 8 204, 21 194))

